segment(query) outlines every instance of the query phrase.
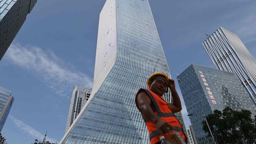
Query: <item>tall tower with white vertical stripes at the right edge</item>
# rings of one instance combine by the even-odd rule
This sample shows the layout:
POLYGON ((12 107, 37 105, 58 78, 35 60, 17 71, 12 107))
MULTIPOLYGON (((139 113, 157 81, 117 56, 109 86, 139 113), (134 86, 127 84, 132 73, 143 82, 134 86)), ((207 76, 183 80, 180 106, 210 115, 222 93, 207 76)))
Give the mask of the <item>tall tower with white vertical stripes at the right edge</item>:
POLYGON ((237 74, 256 105, 256 61, 239 37, 220 27, 202 44, 217 69, 237 74))

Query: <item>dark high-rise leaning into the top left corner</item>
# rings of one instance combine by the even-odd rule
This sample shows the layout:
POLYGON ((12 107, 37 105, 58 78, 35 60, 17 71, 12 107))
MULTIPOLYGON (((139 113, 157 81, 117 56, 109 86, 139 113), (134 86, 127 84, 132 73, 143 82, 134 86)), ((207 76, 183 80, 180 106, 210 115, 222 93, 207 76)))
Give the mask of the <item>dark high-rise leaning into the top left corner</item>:
POLYGON ((37 0, 0 0, 0 61, 37 0))

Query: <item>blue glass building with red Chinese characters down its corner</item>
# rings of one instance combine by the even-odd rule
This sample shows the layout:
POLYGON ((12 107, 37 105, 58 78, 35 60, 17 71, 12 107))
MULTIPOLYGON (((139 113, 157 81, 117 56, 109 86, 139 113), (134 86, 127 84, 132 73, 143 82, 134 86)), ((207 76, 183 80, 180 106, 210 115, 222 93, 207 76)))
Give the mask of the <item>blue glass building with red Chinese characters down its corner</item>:
MULTIPOLYGON (((256 114, 256 106, 237 75, 198 65, 190 65, 177 76, 188 114, 213 113, 225 107, 247 109, 256 114)), ((202 130, 203 114, 189 116, 198 144, 213 144, 208 133, 202 130)))

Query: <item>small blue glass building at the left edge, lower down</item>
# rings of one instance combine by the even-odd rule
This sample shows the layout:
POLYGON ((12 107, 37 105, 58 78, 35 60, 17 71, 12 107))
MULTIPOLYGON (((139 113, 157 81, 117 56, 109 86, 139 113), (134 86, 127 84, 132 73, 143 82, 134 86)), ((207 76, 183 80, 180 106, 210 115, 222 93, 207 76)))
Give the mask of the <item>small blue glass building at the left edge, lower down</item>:
POLYGON ((11 92, 0 87, 0 132, 4 127, 11 106, 13 105, 14 98, 11 96, 11 92))

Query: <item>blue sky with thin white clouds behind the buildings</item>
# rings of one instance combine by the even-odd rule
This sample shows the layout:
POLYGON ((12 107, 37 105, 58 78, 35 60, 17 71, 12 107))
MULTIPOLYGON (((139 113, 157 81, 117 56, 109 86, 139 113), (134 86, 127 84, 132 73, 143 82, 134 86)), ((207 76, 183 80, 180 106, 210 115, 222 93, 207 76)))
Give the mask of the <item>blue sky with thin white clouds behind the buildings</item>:
MULTIPOLYGON (((2 130, 9 144, 43 140, 46 130, 48 140, 61 140, 74 87, 92 87, 104 2, 37 1, 0 62, 0 86, 15 97, 2 130)), ((213 68, 201 43, 220 26, 236 33, 256 56, 255 0, 150 0, 150 6, 175 80, 192 63, 213 68)))

